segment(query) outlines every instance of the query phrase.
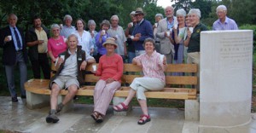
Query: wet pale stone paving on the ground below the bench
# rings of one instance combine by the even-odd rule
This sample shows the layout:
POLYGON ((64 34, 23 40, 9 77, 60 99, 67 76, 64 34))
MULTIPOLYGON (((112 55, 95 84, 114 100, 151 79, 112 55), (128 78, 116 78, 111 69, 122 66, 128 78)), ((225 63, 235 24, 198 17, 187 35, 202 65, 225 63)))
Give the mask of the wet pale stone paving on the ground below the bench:
MULTIPOLYGON (((111 107, 102 124, 96 124, 90 118, 92 105, 75 104, 72 111, 61 113, 60 121, 47 124, 45 117, 49 107, 29 110, 26 101, 19 98, 13 103, 10 97, 0 96, 0 132, 35 132, 35 133, 197 133, 199 122, 185 121, 184 112, 176 108, 149 107, 151 121, 138 125, 141 114, 139 107, 133 107, 127 116, 114 116, 111 107)), ((252 114, 256 118, 256 114, 252 114)), ((205 132, 204 132, 205 133, 205 132)), ((256 133, 256 121, 236 129, 208 130, 207 133, 256 133), (245 132, 245 130, 247 130, 245 132)))

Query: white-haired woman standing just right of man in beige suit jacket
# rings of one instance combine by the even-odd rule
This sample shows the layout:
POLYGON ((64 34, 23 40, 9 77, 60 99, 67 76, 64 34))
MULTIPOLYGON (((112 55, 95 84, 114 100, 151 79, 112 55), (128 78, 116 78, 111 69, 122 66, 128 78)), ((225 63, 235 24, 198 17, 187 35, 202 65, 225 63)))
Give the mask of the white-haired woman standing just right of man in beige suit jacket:
MULTIPOLYGON (((181 64, 183 63, 183 49, 184 49, 184 34, 186 32, 185 27, 185 16, 186 11, 184 9, 178 9, 176 12, 177 15, 177 27, 173 27, 172 31, 174 32, 172 39, 174 39, 174 49, 175 54, 173 58, 173 64, 181 64)), ((174 75, 183 75, 181 72, 175 72, 174 75)))

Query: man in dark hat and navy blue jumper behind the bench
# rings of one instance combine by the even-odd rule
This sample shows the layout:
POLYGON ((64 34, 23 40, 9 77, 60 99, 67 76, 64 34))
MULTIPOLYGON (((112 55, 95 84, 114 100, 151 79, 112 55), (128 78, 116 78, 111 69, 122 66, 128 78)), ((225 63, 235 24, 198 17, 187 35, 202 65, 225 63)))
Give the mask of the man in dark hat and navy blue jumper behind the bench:
POLYGON ((145 53, 143 43, 146 38, 154 38, 152 25, 148 20, 144 19, 144 12, 142 8, 137 8, 135 11, 135 17, 137 19, 137 25, 132 32, 132 42, 135 45, 135 55, 142 55, 145 53))

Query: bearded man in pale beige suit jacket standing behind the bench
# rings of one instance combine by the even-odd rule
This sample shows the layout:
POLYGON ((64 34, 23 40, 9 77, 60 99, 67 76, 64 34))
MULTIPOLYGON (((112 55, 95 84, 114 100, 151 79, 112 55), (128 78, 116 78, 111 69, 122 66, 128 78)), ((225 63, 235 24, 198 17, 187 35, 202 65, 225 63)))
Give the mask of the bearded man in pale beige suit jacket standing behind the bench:
POLYGON ((168 64, 172 63, 174 57, 174 45, 171 43, 170 36, 167 32, 172 30, 174 25, 177 25, 177 18, 173 16, 174 9, 172 6, 167 6, 165 9, 166 18, 160 20, 157 26, 156 38, 160 38, 160 54, 166 55, 168 64))

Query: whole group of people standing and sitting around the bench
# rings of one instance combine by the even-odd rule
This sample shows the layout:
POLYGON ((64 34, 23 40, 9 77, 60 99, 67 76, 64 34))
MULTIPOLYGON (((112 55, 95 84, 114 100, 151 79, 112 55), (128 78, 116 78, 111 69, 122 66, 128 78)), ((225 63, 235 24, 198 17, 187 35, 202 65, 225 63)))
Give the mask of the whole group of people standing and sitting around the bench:
MULTIPOLYGON (((147 123, 150 116, 144 91, 162 90, 165 87, 166 64, 187 62, 198 64, 199 67, 200 33, 208 30, 200 21, 200 9, 190 9, 188 14, 184 9, 178 9, 177 16, 174 16, 174 9, 168 6, 165 14, 166 18, 162 14, 156 14, 156 23, 152 26, 144 19, 143 9, 137 8, 131 12, 131 23, 125 30, 119 26, 118 15, 113 15, 110 22, 102 20, 99 32, 95 31, 94 20, 88 21, 88 32, 84 30, 85 22, 82 19, 76 20, 75 26, 72 26, 73 19, 69 14, 63 19, 64 26, 53 24, 49 31, 37 16, 34 17, 33 26, 26 35, 16 26, 17 16, 9 14, 9 26, 0 31, 0 46, 3 48, 3 65, 12 101, 18 101, 14 83, 16 66, 20 69, 21 98, 26 98, 24 84, 29 57, 33 77, 41 78, 42 70, 44 78, 50 79, 50 111, 46 122, 56 123, 59 121, 56 113, 61 112, 62 107, 73 99, 84 83, 87 64, 96 62, 98 67, 91 72, 100 79, 94 91, 95 107, 91 117, 97 123, 102 123, 113 94, 121 85, 125 56, 128 55, 129 63, 143 68, 143 78, 133 80, 129 95, 124 102, 114 106, 113 110, 127 110, 131 99, 137 95, 137 101, 143 111, 137 123, 147 123), (51 38, 49 32, 52 32, 51 38), (57 70, 52 78, 48 56, 57 70), (62 89, 68 90, 68 93, 65 99, 57 104, 57 96, 62 89)), ((238 29, 235 20, 226 16, 227 9, 224 5, 218 6, 216 14, 218 20, 213 23, 212 30, 238 29)))

